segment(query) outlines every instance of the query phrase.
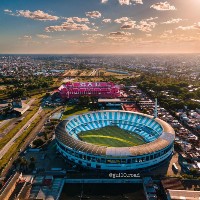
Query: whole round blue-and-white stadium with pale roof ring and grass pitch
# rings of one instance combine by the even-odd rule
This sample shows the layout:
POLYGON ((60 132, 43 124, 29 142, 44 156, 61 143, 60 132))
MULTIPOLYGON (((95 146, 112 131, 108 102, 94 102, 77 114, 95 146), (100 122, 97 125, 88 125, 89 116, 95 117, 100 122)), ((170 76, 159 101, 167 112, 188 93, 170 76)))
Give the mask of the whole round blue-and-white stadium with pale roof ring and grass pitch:
POLYGON ((175 133, 150 115, 103 110, 69 117, 55 130, 57 150, 85 168, 137 170, 167 159, 175 133))

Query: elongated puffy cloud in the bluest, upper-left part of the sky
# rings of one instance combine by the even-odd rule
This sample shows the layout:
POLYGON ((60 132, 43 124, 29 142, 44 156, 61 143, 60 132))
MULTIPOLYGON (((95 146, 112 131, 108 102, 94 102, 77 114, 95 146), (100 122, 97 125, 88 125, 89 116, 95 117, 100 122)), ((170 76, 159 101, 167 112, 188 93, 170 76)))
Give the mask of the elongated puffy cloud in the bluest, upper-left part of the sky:
POLYGON ((56 21, 59 19, 59 17, 49 15, 42 10, 36 10, 33 12, 30 10, 18 10, 15 15, 39 21, 56 21))

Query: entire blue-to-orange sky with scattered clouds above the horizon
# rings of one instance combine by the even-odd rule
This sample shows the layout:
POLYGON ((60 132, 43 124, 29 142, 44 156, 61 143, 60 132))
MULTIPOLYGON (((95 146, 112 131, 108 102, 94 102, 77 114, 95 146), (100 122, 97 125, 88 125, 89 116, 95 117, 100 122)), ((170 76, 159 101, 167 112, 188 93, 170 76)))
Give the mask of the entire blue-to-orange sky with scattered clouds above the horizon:
POLYGON ((1 54, 199 52, 200 0, 0 0, 1 54))

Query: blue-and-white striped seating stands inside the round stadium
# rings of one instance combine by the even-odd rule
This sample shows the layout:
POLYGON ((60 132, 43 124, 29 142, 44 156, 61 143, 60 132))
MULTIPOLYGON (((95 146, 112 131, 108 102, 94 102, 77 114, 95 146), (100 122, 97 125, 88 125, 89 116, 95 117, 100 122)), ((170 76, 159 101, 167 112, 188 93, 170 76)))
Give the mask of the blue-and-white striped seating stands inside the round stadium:
POLYGON ((93 112, 76 116, 66 125, 67 132, 73 138, 78 139, 78 134, 82 131, 99 129, 105 126, 116 125, 121 129, 136 133, 147 142, 152 142, 158 138, 163 128, 154 119, 129 112, 103 111, 93 112))

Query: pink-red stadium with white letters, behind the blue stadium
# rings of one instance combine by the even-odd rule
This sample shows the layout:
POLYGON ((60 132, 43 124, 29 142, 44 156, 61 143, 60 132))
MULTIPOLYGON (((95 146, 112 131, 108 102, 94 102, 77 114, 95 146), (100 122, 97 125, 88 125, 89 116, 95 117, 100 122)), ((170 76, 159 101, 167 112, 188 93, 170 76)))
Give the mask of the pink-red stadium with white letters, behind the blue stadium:
POLYGON ((67 82, 58 88, 64 99, 92 96, 116 98, 120 96, 120 87, 112 82, 67 82))

